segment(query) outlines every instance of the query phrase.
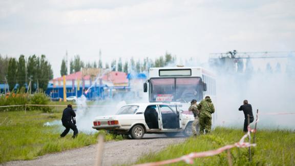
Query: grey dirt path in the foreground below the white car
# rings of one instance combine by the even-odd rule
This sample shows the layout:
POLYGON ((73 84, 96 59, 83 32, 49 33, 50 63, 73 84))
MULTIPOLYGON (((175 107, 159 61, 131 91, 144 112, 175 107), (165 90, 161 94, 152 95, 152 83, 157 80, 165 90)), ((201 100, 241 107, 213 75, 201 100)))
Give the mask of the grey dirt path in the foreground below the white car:
MULTIPOLYGON (((132 163, 149 152, 159 151, 169 144, 183 142, 185 138, 167 138, 164 135, 146 135, 144 139, 127 139, 104 143, 102 165, 132 163)), ((35 160, 11 161, 3 165, 94 165, 96 144, 61 153, 48 154, 35 160)))

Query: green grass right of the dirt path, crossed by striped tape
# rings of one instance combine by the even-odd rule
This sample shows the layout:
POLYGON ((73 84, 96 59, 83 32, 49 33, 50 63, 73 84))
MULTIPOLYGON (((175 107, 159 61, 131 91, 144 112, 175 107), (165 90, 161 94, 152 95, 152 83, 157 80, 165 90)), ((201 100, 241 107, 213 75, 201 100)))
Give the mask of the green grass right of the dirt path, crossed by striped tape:
MULTIPOLYGON (((212 133, 188 138, 184 143, 172 145, 158 153, 142 156, 136 163, 173 159, 192 152, 215 150, 226 144, 238 142, 243 136, 240 129, 216 128, 212 133)), ((248 148, 230 150, 234 165, 295 165, 295 133, 282 130, 259 130, 257 147, 252 149, 248 161, 248 148)), ((194 159, 194 165, 228 165, 227 154, 194 159)), ((188 165, 181 161, 171 165, 188 165)))

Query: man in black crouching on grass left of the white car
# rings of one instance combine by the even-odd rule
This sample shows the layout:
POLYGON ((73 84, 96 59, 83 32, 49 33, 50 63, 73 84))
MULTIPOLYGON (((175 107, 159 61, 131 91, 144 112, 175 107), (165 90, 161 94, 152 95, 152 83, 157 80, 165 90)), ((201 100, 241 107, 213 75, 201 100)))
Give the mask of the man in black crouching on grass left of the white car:
POLYGON ((74 117, 76 117, 76 113, 74 112, 72 105, 68 105, 64 112, 62 112, 61 122, 62 126, 64 126, 66 130, 60 134, 60 137, 65 137, 69 133, 70 129, 74 131, 73 138, 77 137, 78 129, 75 125, 76 122, 74 117), (72 119, 74 123, 72 122, 72 119))

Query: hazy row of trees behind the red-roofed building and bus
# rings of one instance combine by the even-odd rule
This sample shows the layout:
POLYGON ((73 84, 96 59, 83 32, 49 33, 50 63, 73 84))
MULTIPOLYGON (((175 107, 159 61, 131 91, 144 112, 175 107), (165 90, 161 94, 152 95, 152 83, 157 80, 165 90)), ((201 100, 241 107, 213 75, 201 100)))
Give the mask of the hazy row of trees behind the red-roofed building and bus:
POLYGON ((125 73, 130 73, 135 71, 137 73, 144 72, 149 70, 151 67, 164 67, 168 64, 174 63, 176 60, 176 56, 172 56, 170 53, 165 53, 164 56, 160 56, 155 60, 145 57, 143 60, 138 59, 137 61, 131 57, 129 60, 125 60, 123 62, 122 58, 120 57, 117 59, 113 59, 111 64, 106 63, 104 67, 102 66, 102 59, 101 55, 99 55, 98 63, 96 61, 90 63, 85 63, 80 59, 79 55, 75 55, 73 59, 70 60, 70 71, 68 72, 67 66, 67 59, 62 59, 61 66, 60 66, 60 75, 68 75, 75 72, 80 71, 82 68, 105 68, 110 69, 111 71, 120 71, 125 73))

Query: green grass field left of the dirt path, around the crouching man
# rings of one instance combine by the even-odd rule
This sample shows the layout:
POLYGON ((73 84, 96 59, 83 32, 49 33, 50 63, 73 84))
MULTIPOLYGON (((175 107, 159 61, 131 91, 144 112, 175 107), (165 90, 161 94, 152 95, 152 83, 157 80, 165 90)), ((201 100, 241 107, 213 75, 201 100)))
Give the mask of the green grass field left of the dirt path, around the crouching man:
MULTIPOLYGON (((47 153, 89 146, 97 142, 98 132, 79 133, 72 139, 72 133, 59 138, 59 126, 44 126, 44 123, 60 119, 61 112, 41 111, 0 112, 0 163, 11 160, 30 160, 47 153)), ((104 133, 105 134, 105 133, 104 133)), ((106 141, 125 137, 106 134, 106 141)))

